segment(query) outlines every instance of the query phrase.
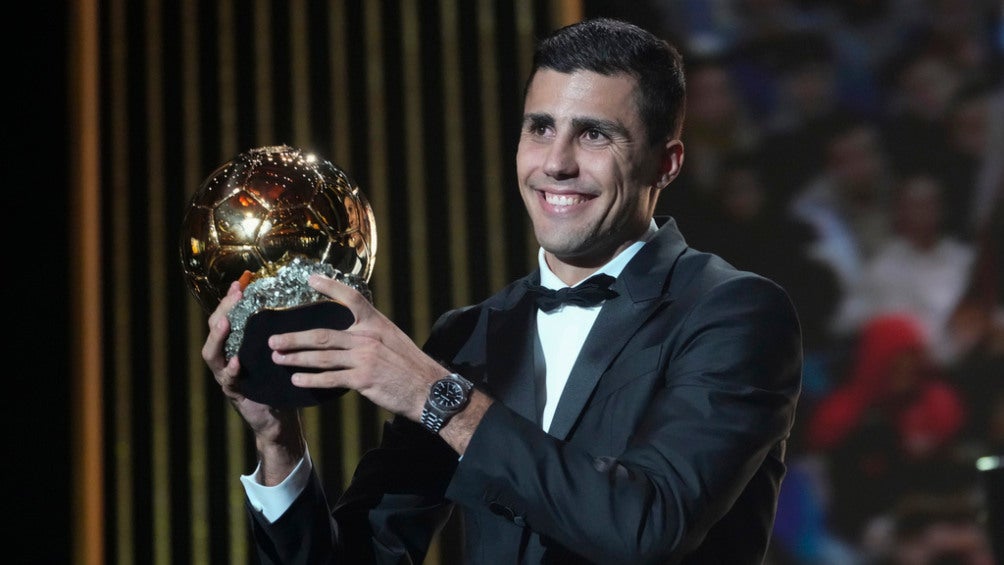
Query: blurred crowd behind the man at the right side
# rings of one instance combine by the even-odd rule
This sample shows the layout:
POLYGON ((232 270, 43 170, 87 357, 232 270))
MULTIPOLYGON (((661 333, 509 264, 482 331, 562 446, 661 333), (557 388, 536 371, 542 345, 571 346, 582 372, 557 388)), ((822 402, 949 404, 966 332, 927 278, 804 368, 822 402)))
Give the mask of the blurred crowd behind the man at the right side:
POLYGON ((1004 455, 1000 1, 649 4, 689 72, 659 213, 784 286, 803 324, 771 563, 992 564, 975 462, 1004 455))

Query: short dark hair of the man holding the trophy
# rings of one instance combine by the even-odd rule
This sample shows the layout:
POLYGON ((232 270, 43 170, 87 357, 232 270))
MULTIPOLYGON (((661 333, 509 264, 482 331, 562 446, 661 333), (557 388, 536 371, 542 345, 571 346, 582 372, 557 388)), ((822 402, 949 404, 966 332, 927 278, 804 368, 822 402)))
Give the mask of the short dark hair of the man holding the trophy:
POLYGON ((542 68, 634 76, 638 80, 638 110, 649 142, 658 144, 680 135, 687 104, 683 56, 650 31, 611 18, 587 19, 554 31, 537 43, 524 98, 542 68))

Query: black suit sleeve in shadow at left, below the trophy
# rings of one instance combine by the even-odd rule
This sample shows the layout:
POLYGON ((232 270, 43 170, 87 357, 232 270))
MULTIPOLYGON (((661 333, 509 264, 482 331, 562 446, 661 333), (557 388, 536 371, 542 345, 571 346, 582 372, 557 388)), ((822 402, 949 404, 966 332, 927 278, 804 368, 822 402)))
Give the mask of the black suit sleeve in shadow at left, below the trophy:
POLYGON ((457 459, 439 437, 395 418, 385 426, 380 448, 363 455, 333 509, 316 471, 272 524, 247 505, 260 562, 422 563, 453 511, 444 493, 457 459))

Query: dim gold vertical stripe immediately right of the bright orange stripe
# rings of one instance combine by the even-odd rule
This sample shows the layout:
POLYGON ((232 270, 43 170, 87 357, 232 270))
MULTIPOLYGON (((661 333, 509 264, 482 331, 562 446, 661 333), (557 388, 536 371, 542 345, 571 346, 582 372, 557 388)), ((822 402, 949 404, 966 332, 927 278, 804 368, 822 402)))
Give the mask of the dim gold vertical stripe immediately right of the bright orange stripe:
POLYGON ((130 312, 129 292, 132 281, 126 257, 130 257, 131 241, 129 230, 130 208, 133 200, 129 189, 130 143, 129 115, 127 103, 128 73, 126 69, 128 22, 126 21, 126 6, 122 0, 109 3, 109 27, 112 34, 111 63, 109 72, 109 103, 111 112, 109 132, 111 143, 111 257, 118 258, 111 262, 112 288, 116 290, 112 300, 112 342, 115 343, 113 366, 114 390, 114 501, 115 501, 115 558, 119 563, 134 562, 135 554, 135 521, 133 500, 136 487, 133 482, 133 371, 130 369, 131 351, 133 350, 133 329, 130 312))

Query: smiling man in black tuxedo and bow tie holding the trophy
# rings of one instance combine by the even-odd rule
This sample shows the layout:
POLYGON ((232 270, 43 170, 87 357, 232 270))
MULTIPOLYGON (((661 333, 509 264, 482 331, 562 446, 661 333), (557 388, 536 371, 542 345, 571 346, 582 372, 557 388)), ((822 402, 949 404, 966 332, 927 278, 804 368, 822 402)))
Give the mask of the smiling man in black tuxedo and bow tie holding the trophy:
POLYGON ((317 370, 294 384, 351 388, 396 414, 330 512, 295 411, 237 392, 221 347, 238 285, 210 317, 203 355, 259 452, 242 480, 263 561, 418 563, 454 511, 470 563, 763 559, 798 323, 776 284, 653 218, 684 160, 680 56, 599 19, 557 31, 534 61, 516 169, 540 268, 443 315, 422 349, 354 290, 312 277, 355 323, 269 340, 275 362, 317 370), (537 283, 595 274, 616 278, 598 304, 537 306, 537 283))

